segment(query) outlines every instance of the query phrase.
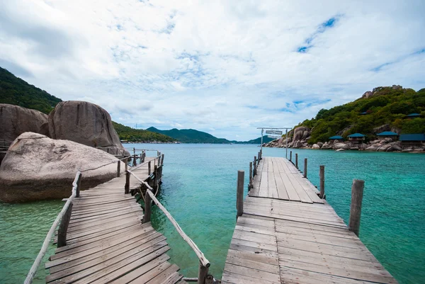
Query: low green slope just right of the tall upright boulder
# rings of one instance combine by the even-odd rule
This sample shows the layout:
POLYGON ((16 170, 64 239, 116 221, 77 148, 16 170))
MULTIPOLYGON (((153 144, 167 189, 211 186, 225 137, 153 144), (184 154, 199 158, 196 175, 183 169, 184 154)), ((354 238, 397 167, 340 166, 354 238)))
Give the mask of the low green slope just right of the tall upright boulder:
POLYGON ((115 122, 112 122, 112 124, 118 132, 120 140, 128 140, 129 142, 176 142, 174 138, 156 132, 135 129, 115 122))

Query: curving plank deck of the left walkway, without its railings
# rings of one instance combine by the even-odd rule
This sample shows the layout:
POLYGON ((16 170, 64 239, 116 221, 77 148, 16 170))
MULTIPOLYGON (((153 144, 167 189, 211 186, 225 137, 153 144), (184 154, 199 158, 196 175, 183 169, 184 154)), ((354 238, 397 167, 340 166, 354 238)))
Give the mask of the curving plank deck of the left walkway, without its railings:
MULTIPOLYGON (((149 177, 147 164, 132 172, 149 177)), ((150 222, 142 224, 143 210, 124 185, 122 175, 74 198, 67 245, 45 263, 46 283, 186 283, 167 261, 166 238, 150 222)), ((130 191, 138 187, 131 176, 130 191)))

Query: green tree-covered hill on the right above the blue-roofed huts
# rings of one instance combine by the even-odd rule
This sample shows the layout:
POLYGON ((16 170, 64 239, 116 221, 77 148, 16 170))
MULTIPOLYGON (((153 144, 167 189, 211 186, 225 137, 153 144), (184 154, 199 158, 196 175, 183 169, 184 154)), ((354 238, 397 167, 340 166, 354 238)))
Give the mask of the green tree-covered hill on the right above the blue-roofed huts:
POLYGON ((309 144, 326 142, 329 137, 360 132, 369 140, 375 139, 373 128, 389 125, 401 133, 425 132, 425 89, 414 91, 401 86, 378 87, 366 92, 362 98, 319 110, 315 118, 304 120, 300 125, 312 128, 309 144), (411 113, 420 118, 407 118, 411 113))

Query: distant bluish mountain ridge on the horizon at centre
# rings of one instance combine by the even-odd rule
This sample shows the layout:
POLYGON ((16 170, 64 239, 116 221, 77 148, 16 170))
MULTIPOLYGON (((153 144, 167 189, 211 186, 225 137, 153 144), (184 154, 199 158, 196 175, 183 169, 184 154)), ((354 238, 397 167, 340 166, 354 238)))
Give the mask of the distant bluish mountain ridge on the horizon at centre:
MULTIPOLYGON (((173 128, 171 130, 159 130, 155 127, 147 128, 148 131, 161 133, 167 135, 169 137, 173 137, 181 143, 211 143, 211 144, 260 144, 261 137, 249 140, 249 141, 235 141, 235 140, 227 140, 225 138, 217 138, 215 136, 210 135, 207 132, 194 130, 194 129, 181 129, 178 130, 173 128)), ((273 139, 268 137, 263 137, 263 143, 267 143, 272 141, 273 139)))

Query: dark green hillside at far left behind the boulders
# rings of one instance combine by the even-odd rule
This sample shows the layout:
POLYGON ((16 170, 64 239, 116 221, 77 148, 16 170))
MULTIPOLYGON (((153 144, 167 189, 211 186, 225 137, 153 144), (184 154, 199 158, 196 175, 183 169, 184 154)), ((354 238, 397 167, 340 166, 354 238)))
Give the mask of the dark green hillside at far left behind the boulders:
POLYGON ((0 67, 0 102, 32 108, 49 114, 62 100, 28 84, 0 67))

